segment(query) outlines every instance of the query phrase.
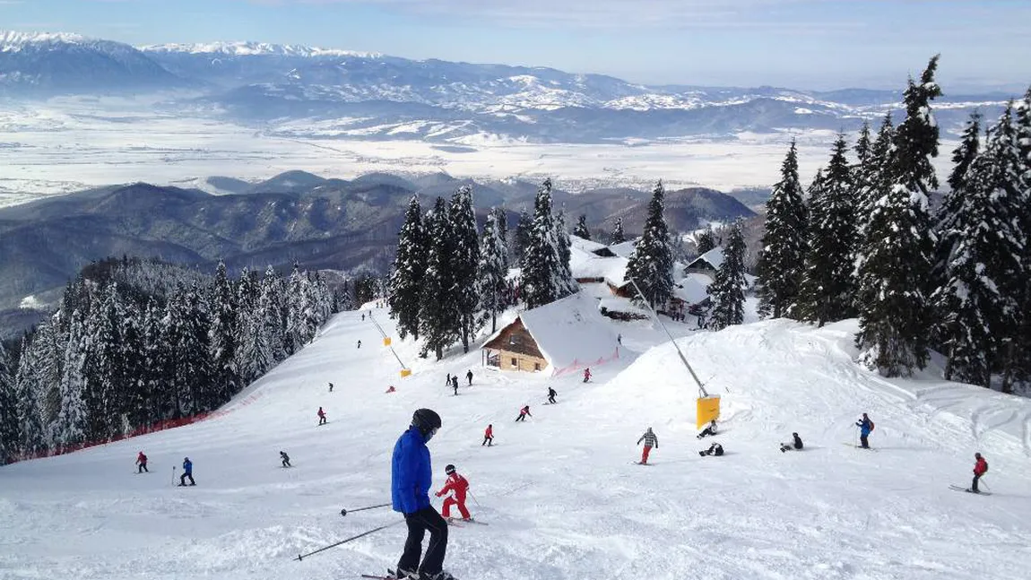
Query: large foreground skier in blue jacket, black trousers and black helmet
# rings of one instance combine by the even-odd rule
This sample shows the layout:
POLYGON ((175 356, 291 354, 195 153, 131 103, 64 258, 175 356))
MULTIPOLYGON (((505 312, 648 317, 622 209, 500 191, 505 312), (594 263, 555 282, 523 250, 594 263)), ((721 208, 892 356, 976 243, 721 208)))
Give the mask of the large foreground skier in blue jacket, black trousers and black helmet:
POLYGON ((397 578, 419 580, 454 580, 442 572, 447 551, 447 522, 430 504, 430 485, 433 471, 430 450, 426 444, 440 429, 440 415, 430 409, 419 409, 411 417, 411 425, 394 445, 391 459, 391 498, 394 511, 404 514, 408 538, 404 552, 397 562, 397 578), (422 565, 423 537, 430 532, 430 543, 422 565))

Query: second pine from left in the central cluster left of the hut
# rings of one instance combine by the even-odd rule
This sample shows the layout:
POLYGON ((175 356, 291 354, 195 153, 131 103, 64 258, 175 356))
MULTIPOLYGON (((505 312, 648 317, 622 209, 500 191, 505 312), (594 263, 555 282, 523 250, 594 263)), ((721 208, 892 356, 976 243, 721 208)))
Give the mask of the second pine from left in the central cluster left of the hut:
POLYGON ((437 198, 423 224, 429 251, 419 316, 419 330, 425 341, 421 355, 426 356, 432 350, 439 361, 444 356, 444 348, 458 340, 460 321, 451 264, 455 242, 443 198, 437 198))

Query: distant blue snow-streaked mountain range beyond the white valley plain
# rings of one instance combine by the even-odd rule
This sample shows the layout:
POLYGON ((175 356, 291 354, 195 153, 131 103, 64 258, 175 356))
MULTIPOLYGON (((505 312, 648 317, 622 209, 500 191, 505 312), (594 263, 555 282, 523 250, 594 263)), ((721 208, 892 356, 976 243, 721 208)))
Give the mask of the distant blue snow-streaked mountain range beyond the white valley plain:
MULTIPOLYGON (((900 87, 902 81, 900 79, 900 87)), ((166 92, 281 137, 474 143, 604 143, 785 129, 854 130, 897 109, 898 91, 644 86, 551 68, 415 61, 258 42, 130 46, 69 34, 0 32, 0 95, 166 92)), ((1007 95, 936 102, 946 131, 1007 95)), ((165 110, 168 110, 167 108, 165 110)))

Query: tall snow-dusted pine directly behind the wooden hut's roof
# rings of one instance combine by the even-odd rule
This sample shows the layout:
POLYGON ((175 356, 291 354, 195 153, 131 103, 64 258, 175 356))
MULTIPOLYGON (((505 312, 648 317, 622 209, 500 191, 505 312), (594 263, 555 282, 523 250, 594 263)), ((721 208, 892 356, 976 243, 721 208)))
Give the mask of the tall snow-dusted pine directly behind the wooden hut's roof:
POLYGON ((559 240, 556 236, 555 216, 552 215, 552 180, 544 179, 537 189, 534 202, 533 229, 529 244, 523 253, 523 300, 527 308, 536 308, 568 296, 572 286, 563 278, 559 264, 559 240))

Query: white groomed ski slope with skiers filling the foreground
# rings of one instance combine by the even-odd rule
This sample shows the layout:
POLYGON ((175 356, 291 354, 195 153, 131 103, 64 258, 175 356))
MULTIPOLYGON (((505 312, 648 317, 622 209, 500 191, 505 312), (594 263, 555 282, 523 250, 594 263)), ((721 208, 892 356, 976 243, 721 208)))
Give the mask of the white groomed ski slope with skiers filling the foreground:
MULTIPOLYGON (((386 311, 375 313, 389 331, 386 311)), ((292 558, 399 520, 339 511, 390 501, 392 447, 422 406, 443 417, 430 443, 435 484, 445 464, 458 466, 473 515, 490 523, 451 530, 445 569, 463 580, 1028 578, 1031 402, 860 370, 854 322, 691 334, 678 343, 724 404, 716 441, 727 454, 702 458, 696 390, 671 345, 642 325, 618 332, 631 352, 592 369, 589 384, 488 371, 478 352, 418 360, 395 337, 415 371, 402 380, 371 322, 339 314, 223 417, 0 468, 0 578, 381 572, 403 525, 292 558), (460 396, 445 372, 461 376, 460 396), (541 405, 546 385, 558 405, 541 405), (516 423, 524 404, 533 418, 516 423), (876 451, 851 446, 864 411, 876 451), (491 448, 480 446, 488 423, 491 448), (655 465, 632 465, 647 427, 659 436, 655 465), (806 449, 779 452, 793 431, 806 449), (293 469, 279 467, 280 449, 293 469), (133 475, 139 450, 149 475, 133 475), (975 450, 989 460, 991 497, 949 488, 969 485, 975 450), (185 455, 197 487, 171 485, 185 455)))

